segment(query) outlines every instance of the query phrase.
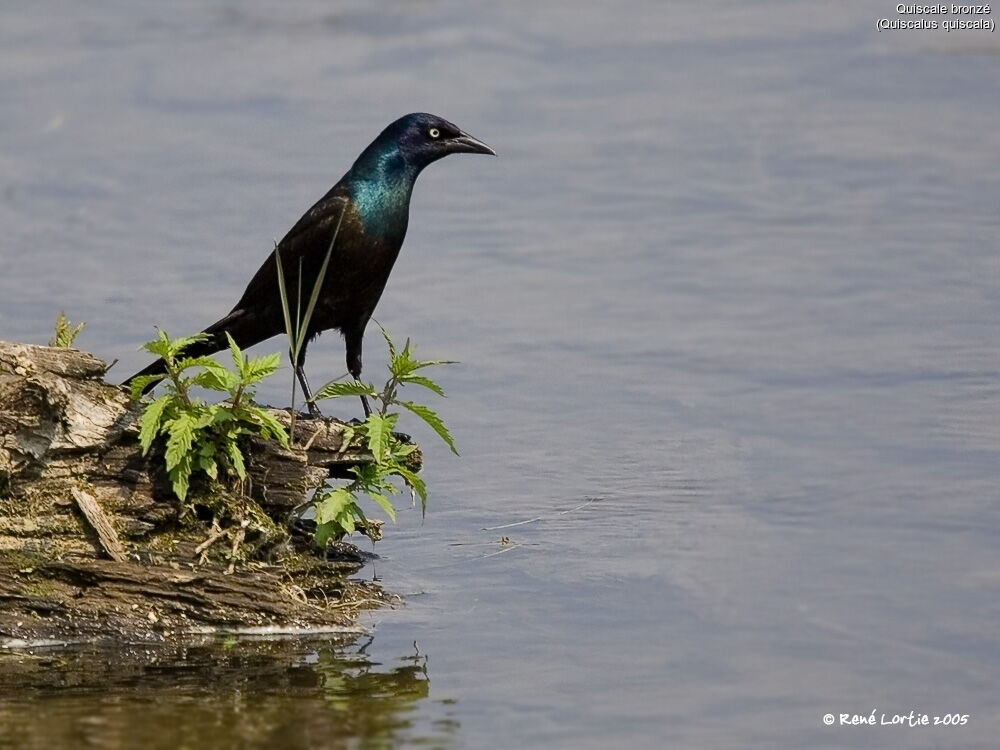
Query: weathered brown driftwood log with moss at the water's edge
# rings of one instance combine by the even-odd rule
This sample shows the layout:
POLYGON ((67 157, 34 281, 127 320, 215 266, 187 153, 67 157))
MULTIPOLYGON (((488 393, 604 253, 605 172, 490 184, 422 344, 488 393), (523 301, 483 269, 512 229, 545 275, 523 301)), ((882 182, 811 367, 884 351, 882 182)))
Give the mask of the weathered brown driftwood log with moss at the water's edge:
POLYGON ((383 598, 348 578, 356 548, 317 555, 293 518, 371 460, 342 444, 343 423, 299 418, 307 448, 251 441, 247 487, 193 484, 182 504, 162 456, 141 455, 140 407, 106 370, 86 352, 0 341, 0 645, 337 628, 383 598))

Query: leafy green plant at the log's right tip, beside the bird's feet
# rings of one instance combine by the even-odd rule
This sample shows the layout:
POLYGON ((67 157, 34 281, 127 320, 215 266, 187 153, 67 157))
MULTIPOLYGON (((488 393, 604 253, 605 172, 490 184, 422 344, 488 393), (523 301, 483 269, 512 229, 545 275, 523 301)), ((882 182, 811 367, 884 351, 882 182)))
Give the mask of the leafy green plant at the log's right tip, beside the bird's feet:
POLYGON ((390 519, 396 519, 396 511, 389 499, 400 492, 394 483, 401 480, 410 489, 411 495, 420 498, 421 512, 427 510, 427 487, 413 469, 413 454, 417 446, 403 440, 396 432, 397 412, 389 410, 394 406, 416 414, 458 455, 455 441, 441 418, 429 407, 399 398, 399 390, 405 385, 417 385, 438 396, 444 390, 426 375, 418 372, 437 365, 454 364, 449 360, 418 360, 413 356, 410 340, 402 350, 398 350, 388 331, 379 325, 389 349, 389 378, 381 390, 371 383, 360 381, 333 381, 324 385, 314 400, 341 396, 370 396, 378 406, 368 418, 359 424, 344 427, 344 445, 360 444, 372 456, 372 463, 351 469, 354 479, 341 487, 328 487, 317 492, 313 498, 316 511, 316 543, 325 547, 330 539, 339 539, 354 533, 359 522, 367 523, 358 499, 368 495, 376 505, 385 511, 390 519))

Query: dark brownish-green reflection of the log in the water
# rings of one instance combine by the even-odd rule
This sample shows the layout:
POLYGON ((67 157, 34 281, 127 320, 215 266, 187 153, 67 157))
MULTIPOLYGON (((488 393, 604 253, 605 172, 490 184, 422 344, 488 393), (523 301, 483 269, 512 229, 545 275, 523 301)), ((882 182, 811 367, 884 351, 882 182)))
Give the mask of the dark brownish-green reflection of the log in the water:
POLYGON ((430 698, 427 656, 414 644, 380 663, 370 645, 241 640, 5 654, 0 747, 452 745, 453 701, 430 698))

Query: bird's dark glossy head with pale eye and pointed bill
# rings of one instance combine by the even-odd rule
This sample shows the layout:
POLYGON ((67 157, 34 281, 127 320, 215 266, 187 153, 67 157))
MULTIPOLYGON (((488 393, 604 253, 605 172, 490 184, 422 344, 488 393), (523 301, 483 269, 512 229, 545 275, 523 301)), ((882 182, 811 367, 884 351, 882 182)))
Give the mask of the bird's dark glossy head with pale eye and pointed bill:
POLYGON ((492 154, 496 151, 477 138, 462 132, 456 125, 443 117, 424 112, 400 117, 389 125, 365 153, 358 159, 359 164, 369 161, 385 164, 402 157, 402 161, 414 172, 419 172, 428 164, 448 154, 492 154))

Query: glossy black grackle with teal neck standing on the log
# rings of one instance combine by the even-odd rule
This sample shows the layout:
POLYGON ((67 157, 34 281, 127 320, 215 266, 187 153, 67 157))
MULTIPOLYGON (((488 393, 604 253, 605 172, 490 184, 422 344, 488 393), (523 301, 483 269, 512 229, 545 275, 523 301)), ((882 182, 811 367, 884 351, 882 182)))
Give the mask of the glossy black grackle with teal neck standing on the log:
MULTIPOLYGON (((190 346, 185 355, 202 356, 225 349, 227 333, 241 348, 284 333, 275 252, 281 255, 291 304, 295 304, 296 290, 301 289, 304 307, 336 233, 305 343, 299 361, 293 366, 306 399, 310 399, 302 369, 306 345, 322 331, 336 328, 344 335, 347 370, 359 379, 365 326, 403 245, 410 195, 417 175, 428 164, 448 154, 462 153, 496 156, 485 143, 435 115, 409 114, 389 125, 361 153, 340 182, 278 243, 230 313, 204 330, 208 338, 190 346)), ((160 359, 137 372, 125 384, 142 375, 163 372, 163 360, 160 359)), ((143 392, 154 386, 155 383, 149 384, 143 392)), ((361 401, 367 416, 370 413, 368 402, 364 396, 361 401)), ((310 411, 317 413, 315 405, 311 401, 308 403, 310 411)))

